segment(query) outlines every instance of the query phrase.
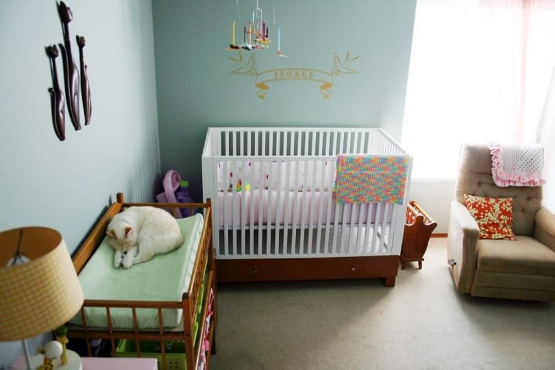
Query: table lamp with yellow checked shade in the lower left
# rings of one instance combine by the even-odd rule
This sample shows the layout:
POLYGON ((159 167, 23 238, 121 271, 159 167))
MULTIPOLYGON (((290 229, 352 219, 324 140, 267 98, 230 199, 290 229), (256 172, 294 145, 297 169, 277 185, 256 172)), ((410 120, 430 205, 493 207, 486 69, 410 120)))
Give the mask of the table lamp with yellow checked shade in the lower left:
MULTIPOLYGON (((0 341, 21 340, 32 369, 25 338, 64 325, 83 304, 83 290, 59 232, 20 227, 0 233, 0 297, 0 341)), ((62 369, 82 369, 75 352, 68 357, 62 369)))

